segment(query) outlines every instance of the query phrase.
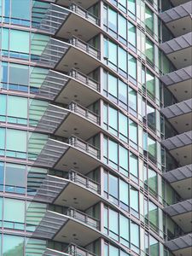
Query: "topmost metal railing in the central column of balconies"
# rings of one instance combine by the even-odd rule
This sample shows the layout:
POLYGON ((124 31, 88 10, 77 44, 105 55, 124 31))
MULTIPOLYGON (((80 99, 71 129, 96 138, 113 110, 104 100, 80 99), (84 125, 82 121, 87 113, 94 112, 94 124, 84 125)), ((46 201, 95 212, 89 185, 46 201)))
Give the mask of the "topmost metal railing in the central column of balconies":
POLYGON ((70 10, 75 12, 76 14, 84 17, 86 20, 89 20, 90 22, 95 23, 96 25, 100 25, 100 20, 99 18, 96 17, 96 15, 91 14, 89 11, 86 9, 82 8, 76 3, 72 3, 69 7, 70 10))

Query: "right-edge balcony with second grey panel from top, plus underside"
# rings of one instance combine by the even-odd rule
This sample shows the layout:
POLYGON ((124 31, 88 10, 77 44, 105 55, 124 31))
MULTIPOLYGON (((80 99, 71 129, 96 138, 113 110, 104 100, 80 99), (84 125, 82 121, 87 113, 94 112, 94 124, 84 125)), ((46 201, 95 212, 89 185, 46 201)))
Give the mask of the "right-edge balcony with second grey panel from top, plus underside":
POLYGON ((192 64, 192 32, 160 44, 160 49, 177 69, 189 67, 192 64))

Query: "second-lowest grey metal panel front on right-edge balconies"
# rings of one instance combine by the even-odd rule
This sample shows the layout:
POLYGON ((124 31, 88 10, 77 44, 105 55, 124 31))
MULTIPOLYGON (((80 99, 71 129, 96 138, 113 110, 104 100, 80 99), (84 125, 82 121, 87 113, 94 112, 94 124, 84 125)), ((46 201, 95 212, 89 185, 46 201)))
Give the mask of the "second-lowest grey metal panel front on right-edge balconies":
POLYGON ((170 216, 192 212, 192 199, 181 201, 177 204, 164 208, 164 211, 170 216))

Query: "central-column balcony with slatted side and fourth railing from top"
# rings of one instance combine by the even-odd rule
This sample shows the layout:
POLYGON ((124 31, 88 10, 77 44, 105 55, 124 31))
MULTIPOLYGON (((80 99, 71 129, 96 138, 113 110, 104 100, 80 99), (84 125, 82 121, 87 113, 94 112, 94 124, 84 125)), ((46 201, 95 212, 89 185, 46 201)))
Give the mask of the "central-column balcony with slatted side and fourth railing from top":
MULTIPOLYGON (((33 104, 31 106, 34 108, 33 104)), ((49 131, 59 137, 71 137, 74 133, 83 140, 102 131, 100 117, 75 102, 71 102, 67 108, 49 104, 42 112, 36 126, 37 131, 49 131)))

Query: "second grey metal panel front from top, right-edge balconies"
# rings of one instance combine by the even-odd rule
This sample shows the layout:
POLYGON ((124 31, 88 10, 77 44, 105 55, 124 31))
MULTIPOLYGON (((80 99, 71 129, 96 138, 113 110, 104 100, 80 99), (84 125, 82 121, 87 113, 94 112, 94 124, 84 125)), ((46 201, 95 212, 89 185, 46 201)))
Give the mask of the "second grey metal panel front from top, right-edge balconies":
POLYGON ((164 44, 160 44, 160 49, 162 49, 166 55, 171 54, 177 50, 188 48, 192 45, 192 32, 189 32, 181 37, 173 38, 164 44))

